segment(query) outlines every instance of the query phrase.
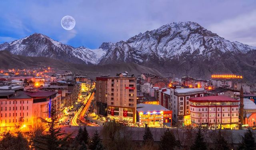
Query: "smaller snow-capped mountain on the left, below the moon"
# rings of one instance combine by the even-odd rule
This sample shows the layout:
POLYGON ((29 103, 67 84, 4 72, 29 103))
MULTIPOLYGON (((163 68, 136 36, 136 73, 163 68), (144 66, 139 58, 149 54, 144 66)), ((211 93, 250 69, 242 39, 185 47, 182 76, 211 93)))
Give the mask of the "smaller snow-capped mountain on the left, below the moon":
POLYGON ((0 50, 8 50, 16 55, 49 57, 86 64, 98 64, 100 58, 105 54, 100 48, 96 50, 85 47, 74 48, 37 33, 10 43, 1 44, 0 50))

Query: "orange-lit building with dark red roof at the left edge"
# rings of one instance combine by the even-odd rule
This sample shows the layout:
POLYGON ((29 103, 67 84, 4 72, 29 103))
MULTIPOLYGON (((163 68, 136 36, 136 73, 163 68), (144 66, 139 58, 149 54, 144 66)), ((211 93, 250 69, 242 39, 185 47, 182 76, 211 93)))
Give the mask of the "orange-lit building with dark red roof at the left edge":
POLYGON ((52 100, 60 108, 60 94, 49 91, 0 91, 0 131, 26 130, 37 125, 40 118, 50 117, 52 100))

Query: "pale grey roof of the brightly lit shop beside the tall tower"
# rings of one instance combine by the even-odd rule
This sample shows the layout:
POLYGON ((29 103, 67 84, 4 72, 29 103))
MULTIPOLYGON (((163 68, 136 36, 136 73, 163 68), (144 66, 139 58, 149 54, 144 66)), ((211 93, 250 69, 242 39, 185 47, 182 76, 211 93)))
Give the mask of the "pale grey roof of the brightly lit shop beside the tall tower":
POLYGON ((162 105, 153 104, 137 104, 138 112, 159 112, 159 111, 170 111, 162 105))

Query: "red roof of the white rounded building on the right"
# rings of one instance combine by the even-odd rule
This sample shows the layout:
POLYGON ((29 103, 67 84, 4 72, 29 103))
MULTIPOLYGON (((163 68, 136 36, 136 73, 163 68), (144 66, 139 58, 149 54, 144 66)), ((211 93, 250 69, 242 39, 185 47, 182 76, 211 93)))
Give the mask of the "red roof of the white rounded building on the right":
POLYGON ((228 96, 204 96, 204 97, 196 97, 190 98, 191 102, 238 102, 234 98, 230 98, 228 96))

